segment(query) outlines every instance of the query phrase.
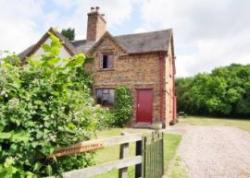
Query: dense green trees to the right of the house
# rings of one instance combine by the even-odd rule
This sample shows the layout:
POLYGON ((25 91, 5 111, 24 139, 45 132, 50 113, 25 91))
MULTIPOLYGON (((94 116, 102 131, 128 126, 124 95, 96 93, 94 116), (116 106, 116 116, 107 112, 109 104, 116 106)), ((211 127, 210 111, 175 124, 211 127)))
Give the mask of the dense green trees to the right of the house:
POLYGON ((178 111, 218 116, 250 116, 250 65, 232 64, 210 74, 176 80, 178 111))

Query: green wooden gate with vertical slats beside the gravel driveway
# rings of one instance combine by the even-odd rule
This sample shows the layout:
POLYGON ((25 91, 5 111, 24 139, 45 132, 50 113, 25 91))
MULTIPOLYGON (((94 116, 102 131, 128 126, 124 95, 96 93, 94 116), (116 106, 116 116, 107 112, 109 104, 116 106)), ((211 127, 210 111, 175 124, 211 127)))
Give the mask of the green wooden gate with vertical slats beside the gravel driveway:
POLYGON ((155 132, 144 137, 143 178, 161 178, 164 174, 164 135, 155 132))

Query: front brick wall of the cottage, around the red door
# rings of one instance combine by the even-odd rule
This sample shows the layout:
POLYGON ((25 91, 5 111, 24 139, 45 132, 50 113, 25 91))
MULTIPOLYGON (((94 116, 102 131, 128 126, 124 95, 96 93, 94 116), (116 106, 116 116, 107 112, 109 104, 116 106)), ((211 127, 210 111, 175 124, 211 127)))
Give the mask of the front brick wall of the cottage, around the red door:
POLYGON ((134 96, 134 114, 136 118, 136 89, 153 89, 153 120, 160 120, 159 90, 159 54, 125 55, 124 52, 109 38, 105 39, 92 54, 94 60, 86 64, 86 70, 94 78, 96 88, 115 88, 127 86, 134 96), (100 57, 103 52, 113 52, 113 69, 100 70, 100 57))

